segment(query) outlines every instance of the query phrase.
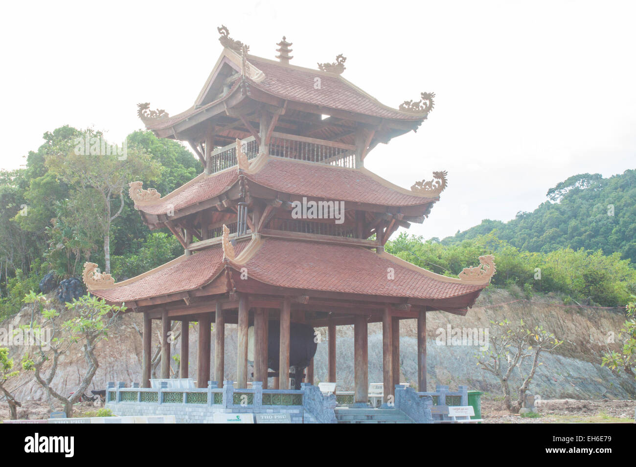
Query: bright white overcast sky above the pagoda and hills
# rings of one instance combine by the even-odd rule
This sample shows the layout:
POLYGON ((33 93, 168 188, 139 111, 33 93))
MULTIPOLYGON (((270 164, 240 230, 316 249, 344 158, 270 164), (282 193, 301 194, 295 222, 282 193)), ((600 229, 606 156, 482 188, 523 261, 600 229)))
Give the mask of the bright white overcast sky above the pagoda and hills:
POLYGON ((292 64, 347 57, 343 76, 397 107, 434 91, 417 133, 372 151, 367 168, 403 187, 448 170, 411 233, 444 237, 509 220, 575 173, 636 168, 636 3, 47 2, 3 4, 1 168, 24 164, 69 124, 121 142, 138 102, 177 114, 216 62, 216 27, 292 64))

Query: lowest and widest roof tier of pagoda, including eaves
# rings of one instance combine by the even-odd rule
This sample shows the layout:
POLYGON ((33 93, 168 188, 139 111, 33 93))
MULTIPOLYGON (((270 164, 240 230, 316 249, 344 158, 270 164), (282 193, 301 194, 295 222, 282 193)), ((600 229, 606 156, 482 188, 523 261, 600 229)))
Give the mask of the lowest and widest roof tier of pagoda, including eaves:
POLYGON ((93 295, 128 306, 142 306, 156 297, 163 297, 162 302, 181 300, 178 294, 183 292, 198 296, 238 291, 309 297, 329 292, 336 299, 384 297, 391 302, 389 297, 401 303, 459 310, 473 306, 490 280, 490 276, 483 276, 481 283, 474 283, 441 276, 385 252, 355 245, 258 235, 236 241, 233 255, 227 256, 218 244, 107 288, 90 281, 87 285, 93 295))

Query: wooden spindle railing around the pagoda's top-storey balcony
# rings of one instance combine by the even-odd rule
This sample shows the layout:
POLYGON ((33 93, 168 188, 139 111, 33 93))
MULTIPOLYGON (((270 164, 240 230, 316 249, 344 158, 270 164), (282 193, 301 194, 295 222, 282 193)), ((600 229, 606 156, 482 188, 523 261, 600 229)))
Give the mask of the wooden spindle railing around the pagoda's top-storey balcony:
MULTIPOLYGON (((253 136, 242 140, 242 145, 248 160, 258 156, 259 147, 253 136)), ((269 152, 270 156, 280 158, 340 167, 355 168, 356 166, 356 146, 286 133, 272 133, 269 152)), ((237 165, 236 143, 212 151, 212 173, 235 165, 237 165)))

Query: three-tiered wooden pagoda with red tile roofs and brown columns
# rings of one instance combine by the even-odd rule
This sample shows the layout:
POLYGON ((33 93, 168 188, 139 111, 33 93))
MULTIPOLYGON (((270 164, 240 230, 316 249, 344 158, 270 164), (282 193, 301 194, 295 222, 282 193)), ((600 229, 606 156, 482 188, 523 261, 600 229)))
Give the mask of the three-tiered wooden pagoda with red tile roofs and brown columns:
POLYGON ((466 315, 495 265, 483 256, 479 266, 448 277, 384 252, 396 229, 428 217, 446 172, 405 189, 364 168, 364 159, 378 144, 417 130, 434 94, 394 109, 343 78, 343 55, 309 69, 290 63, 286 37, 270 60, 249 54, 225 26, 218 30, 223 51, 190 109, 174 116, 148 103, 138 109, 148 130, 188 142, 202 164, 200 175, 165 196, 130 184, 144 222, 167 227, 184 254, 120 283, 85 264, 93 295, 143 315, 142 387, 151 377, 152 320, 162 323, 162 378, 170 377, 171 322, 182 323, 182 378, 189 377, 188 323, 199 323, 198 388, 226 379, 226 323, 238 331, 235 387, 247 388, 252 360, 253 381, 266 388, 272 377, 275 389, 289 389, 294 378, 297 386, 303 376, 314 382, 315 345, 305 362, 290 356, 294 326, 309 328, 310 337, 314 328, 328 329, 327 377, 336 382, 336 327, 353 325, 355 402, 367 403, 367 326, 382 322, 389 400, 399 384, 400 321, 414 319, 418 389, 425 391, 426 313, 466 315))

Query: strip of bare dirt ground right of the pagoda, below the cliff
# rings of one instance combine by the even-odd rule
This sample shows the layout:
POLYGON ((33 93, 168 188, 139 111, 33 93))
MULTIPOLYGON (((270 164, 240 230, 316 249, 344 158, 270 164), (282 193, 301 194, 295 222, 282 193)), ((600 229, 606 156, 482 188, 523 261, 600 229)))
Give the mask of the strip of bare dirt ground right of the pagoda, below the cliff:
POLYGON ((633 423, 636 400, 553 399, 537 402, 539 415, 511 414, 499 401, 481 400, 486 423, 633 423))

